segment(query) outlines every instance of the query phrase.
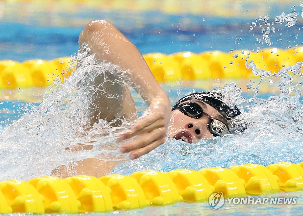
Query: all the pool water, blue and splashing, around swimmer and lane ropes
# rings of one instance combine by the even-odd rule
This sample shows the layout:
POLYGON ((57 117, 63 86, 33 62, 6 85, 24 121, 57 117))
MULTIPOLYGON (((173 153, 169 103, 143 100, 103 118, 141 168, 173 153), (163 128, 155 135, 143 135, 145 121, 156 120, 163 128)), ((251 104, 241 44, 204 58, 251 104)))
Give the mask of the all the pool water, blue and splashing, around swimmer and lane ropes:
MULTIPOLYGON (((181 1, 176 1, 175 5, 167 7, 171 10, 168 10, 161 1, 153 2, 155 5, 158 4, 158 7, 152 7, 153 10, 142 7, 139 10, 135 9, 136 4, 129 1, 126 1, 128 7, 123 7, 123 4, 110 4, 108 1, 100 1, 99 4, 95 1, 87 2, 91 4, 78 3, 77 7, 70 1, 0 2, 0 29, 6 33, 0 35, 0 58, 22 62, 33 58, 51 60, 73 55, 78 50, 78 34, 85 24, 99 18, 112 21, 142 53, 170 54, 179 51, 200 53, 205 50, 227 52, 267 48, 259 26, 265 24, 262 20, 256 21, 255 18, 258 16, 264 18, 268 15, 269 23, 272 25, 271 22, 274 22, 276 15, 282 12, 287 14, 296 9, 299 16, 295 26, 286 28, 285 24, 274 23, 275 32, 271 31, 270 34, 271 47, 293 49, 303 41, 300 32, 303 23, 303 18, 300 18, 302 7, 297 1, 279 4, 274 1, 218 1, 214 4, 210 0, 206 1, 205 5, 193 1, 192 5, 188 4, 187 7, 181 1), (172 6, 175 6, 175 10, 172 6), (229 9, 228 13, 226 9, 229 9), (257 27, 249 31, 252 22, 256 22, 257 27)), ((78 57, 81 58, 81 55, 78 57)), ((82 58, 87 63, 94 63, 83 56, 82 58)), ((107 65, 99 67, 100 70, 97 72, 102 73, 102 69, 107 65)), ((52 169, 62 163, 99 154, 128 157, 117 150, 118 144, 114 140, 118 135, 113 134, 111 129, 102 124, 98 127, 103 132, 108 132, 110 136, 97 140, 93 151, 77 154, 64 151, 71 143, 96 141, 93 136, 83 140, 74 133, 75 129, 79 131, 82 129, 81 123, 85 123, 81 117, 85 115, 83 110, 89 102, 86 95, 89 95, 91 90, 88 86, 79 87, 75 83, 85 79, 84 72, 89 73, 90 70, 89 66, 80 67, 61 88, 53 88, 51 91, 36 87, 1 90, 0 181, 13 178, 28 180, 49 175, 52 169), (12 124, 13 122, 15 123, 12 124), (107 149, 107 144, 112 142, 116 148, 107 149)), ((250 80, 246 79, 194 82, 180 80, 162 84, 171 98, 171 104, 193 91, 217 89, 225 93, 230 102, 237 103, 243 112, 237 117, 239 124, 235 125, 234 134, 201 140, 191 145, 180 140, 166 140, 151 153, 137 160, 118 164, 112 173, 128 175, 147 169, 166 172, 177 168, 198 170, 204 167, 229 167, 243 163, 267 166, 280 161, 302 162, 302 86, 299 83, 296 85, 301 77, 299 74, 292 75, 294 81, 287 82, 288 76, 285 74, 281 76, 282 78, 271 77, 273 82, 267 77, 260 81, 258 94, 253 88, 248 89, 250 80), (280 95, 283 89, 279 90, 278 86, 281 83, 286 83, 283 86, 287 87, 286 90, 289 90, 290 94, 282 92, 284 94, 280 95)), ((253 87, 258 86, 259 80, 259 76, 252 80, 253 87)), ((141 115, 146 110, 146 105, 133 90, 132 95, 141 115)), ((128 129, 130 124, 125 123, 123 127, 124 130, 128 129)), ((93 135, 100 133, 97 129, 92 132, 93 135)), ((296 196, 298 203, 224 205, 215 211, 210 209, 208 203, 177 203, 106 214, 301 214, 303 203, 301 192, 273 196, 296 196)))

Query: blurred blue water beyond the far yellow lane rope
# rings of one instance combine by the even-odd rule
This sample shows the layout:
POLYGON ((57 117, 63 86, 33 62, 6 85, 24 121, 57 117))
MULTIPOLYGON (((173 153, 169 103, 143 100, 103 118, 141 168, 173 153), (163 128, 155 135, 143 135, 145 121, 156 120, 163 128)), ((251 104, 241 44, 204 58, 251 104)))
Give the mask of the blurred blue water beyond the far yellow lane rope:
MULTIPOLYGON (((282 12, 286 14, 296 9, 300 13, 298 2, 241 2, 226 4, 233 16, 218 17, 216 12, 208 11, 205 14, 167 14, 162 11, 133 11, 77 8, 76 11, 62 12, 44 11, 45 8, 38 5, 30 8, 26 2, 2 3, 5 7, 0 18, 0 60, 11 59, 24 61, 33 58, 51 60, 61 56, 71 56, 78 50, 78 35, 88 23, 95 19, 108 19, 126 37, 128 37, 141 51, 141 53, 161 52, 175 53, 179 51, 192 51, 200 53, 208 50, 221 50, 228 52, 233 50, 256 50, 256 47, 267 48, 262 39, 262 21, 255 18, 269 16, 269 23, 282 12), (293 5, 297 7, 293 8, 293 5), (233 7, 241 6, 242 9, 233 7), (23 13, 24 8, 28 14, 23 13), (89 12, 85 12, 89 10, 89 12), (258 12, 263 11, 264 12, 258 12), (252 11, 256 11, 253 15, 252 11), (249 32, 249 26, 256 22, 257 27, 249 32), (261 39, 259 44, 256 38, 261 39)), ((207 10, 208 8, 205 8, 207 10)), ((220 5, 216 8, 220 8, 220 5)), ((299 14, 300 16, 300 14, 299 14)), ((301 44, 303 35, 295 32, 302 28, 303 18, 299 18, 294 28, 286 28, 285 24, 274 24, 275 33, 271 32, 272 47, 293 48, 295 44, 301 44), (282 34, 282 36, 280 36, 282 34), (297 37, 297 38, 296 38, 297 37), (280 41, 281 39, 281 41, 280 41)), ((266 26, 263 24, 263 27, 266 26)))

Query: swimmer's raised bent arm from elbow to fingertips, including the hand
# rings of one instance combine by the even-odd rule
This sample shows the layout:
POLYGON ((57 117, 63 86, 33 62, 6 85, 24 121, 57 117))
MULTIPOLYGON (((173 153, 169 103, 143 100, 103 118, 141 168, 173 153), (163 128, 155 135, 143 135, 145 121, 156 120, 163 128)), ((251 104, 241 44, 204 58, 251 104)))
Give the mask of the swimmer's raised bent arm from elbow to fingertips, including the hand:
POLYGON ((136 123, 132 132, 120 136, 121 140, 125 140, 140 134, 136 140, 121 146, 120 150, 132 151, 130 157, 135 159, 162 144, 168 128, 171 105, 168 95, 155 80, 137 47, 105 20, 88 23, 79 36, 79 44, 88 44, 100 60, 119 65, 128 71, 126 76, 132 82, 132 87, 151 108, 151 114, 136 123))

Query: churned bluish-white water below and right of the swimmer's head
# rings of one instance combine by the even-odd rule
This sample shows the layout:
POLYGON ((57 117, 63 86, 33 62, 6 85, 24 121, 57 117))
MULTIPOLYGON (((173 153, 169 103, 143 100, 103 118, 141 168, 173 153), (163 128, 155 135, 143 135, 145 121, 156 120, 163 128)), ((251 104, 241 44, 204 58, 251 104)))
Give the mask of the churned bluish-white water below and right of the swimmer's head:
MULTIPOLYGON (((293 84, 293 76, 301 73, 302 63, 271 74, 258 69, 253 61, 246 66, 260 80, 253 88, 253 98, 244 98, 241 89, 230 83, 220 89, 227 102, 238 104, 242 114, 233 120, 234 134, 221 138, 203 139, 189 144, 180 140, 167 140, 151 153, 137 160, 118 164, 112 173, 129 175, 140 170, 170 171, 177 168, 199 170, 206 167, 226 167, 244 163, 267 166, 281 161, 303 161, 303 103, 301 81, 293 84), (264 78, 279 78, 280 95, 268 99, 258 98, 258 90, 264 78), (295 91, 294 91, 295 89, 295 91), (290 95, 294 91, 294 95, 290 95)), ((271 83, 271 82, 269 82, 271 83)))

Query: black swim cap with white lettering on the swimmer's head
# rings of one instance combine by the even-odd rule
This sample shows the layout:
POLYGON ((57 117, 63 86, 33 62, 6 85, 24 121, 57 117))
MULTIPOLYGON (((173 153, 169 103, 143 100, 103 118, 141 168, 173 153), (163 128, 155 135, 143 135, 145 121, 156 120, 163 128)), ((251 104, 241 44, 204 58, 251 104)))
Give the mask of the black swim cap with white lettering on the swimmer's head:
POLYGON ((185 97, 178 100, 178 102, 172 107, 171 110, 175 110, 176 107, 182 102, 192 99, 200 100, 211 105, 219 113, 221 113, 227 120, 230 120, 235 116, 241 114, 240 110, 236 106, 230 108, 228 105, 226 105, 223 101, 224 99, 223 95, 219 92, 197 92, 197 93, 192 93, 190 95, 186 95, 185 97))

